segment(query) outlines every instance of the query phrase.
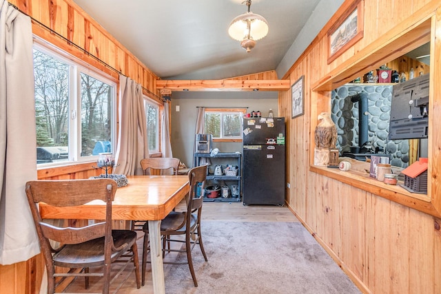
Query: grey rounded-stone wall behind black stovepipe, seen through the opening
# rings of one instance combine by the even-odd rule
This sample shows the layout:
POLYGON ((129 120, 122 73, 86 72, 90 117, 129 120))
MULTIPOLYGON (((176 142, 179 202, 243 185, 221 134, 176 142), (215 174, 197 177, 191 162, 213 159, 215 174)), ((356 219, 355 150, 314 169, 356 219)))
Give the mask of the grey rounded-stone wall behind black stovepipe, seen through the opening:
POLYGON ((391 165, 409 165, 409 140, 389 140, 392 86, 351 83, 331 91, 331 118, 336 123, 340 154, 358 146, 358 102, 348 96, 366 92, 369 99, 368 138, 378 153, 391 154, 391 165))

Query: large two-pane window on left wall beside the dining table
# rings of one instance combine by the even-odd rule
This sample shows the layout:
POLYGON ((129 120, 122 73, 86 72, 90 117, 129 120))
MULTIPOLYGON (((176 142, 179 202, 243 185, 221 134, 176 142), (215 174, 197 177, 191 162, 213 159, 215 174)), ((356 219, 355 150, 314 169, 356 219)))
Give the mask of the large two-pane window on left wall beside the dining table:
POLYGON ((34 78, 38 165, 114 151, 116 83, 37 44, 34 78))

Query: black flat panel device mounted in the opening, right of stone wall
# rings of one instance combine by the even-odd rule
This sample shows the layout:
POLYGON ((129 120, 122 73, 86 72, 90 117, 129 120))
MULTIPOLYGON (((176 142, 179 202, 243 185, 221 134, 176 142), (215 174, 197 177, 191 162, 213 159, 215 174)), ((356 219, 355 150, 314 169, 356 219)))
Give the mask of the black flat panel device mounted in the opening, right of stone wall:
POLYGON ((427 138, 429 74, 393 85, 389 139, 427 138))

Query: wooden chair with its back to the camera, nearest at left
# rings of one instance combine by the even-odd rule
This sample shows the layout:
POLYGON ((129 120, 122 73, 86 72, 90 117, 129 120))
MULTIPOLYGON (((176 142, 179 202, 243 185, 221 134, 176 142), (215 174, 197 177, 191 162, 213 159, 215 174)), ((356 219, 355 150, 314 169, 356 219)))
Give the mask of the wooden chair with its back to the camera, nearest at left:
POLYGON ((136 232, 112 230, 112 200, 116 188, 116 182, 106 178, 34 180, 26 183, 26 196, 48 273, 48 293, 54 293, 65 278, 74 276, 85 277, 85 288, 89 286, 90 276, 103 277, 103 293, 109 293, 110 284, 130 262, 135 266, 136 286, 141 288, 136 232), (106 203, 105 221, 79 228, 56 227, 43 222, 37 207, 39 202, 55 207, 76 207, 92 200, 106 203), (58 248, 53 244, 59 244, 58 248), (110 280, 113 262, 125 262, 125 265, 110 280), (57 273, 55 266, 70 270, 57 273), (90 273, 89 268, 96 266, 101 266, 102 272, 90 273), (57 283, 56 277, 61 277, 57 283))

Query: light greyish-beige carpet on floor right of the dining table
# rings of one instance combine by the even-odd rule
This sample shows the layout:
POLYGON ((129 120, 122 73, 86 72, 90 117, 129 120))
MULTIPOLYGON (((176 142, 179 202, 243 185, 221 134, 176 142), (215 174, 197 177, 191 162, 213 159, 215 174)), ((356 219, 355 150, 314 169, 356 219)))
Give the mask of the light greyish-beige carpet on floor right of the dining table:
POLYGON ((166 293, 360 293, 299 222, 204 221, 202 230, 208 262, 192 251, 198 287, 187 264, 175 265, 166 293))

